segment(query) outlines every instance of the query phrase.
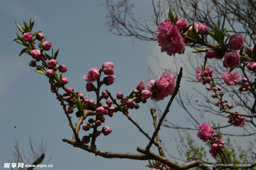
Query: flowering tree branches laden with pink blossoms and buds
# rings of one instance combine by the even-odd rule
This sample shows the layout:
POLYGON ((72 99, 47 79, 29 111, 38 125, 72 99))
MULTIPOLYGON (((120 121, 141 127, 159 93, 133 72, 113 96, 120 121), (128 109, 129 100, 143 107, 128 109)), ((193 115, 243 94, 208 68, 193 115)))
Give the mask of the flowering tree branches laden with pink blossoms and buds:
MULTIPOLYGON (((97 65, 97 67, 89 69, 89 72, 83 76, 83 80, 87 82, 87 92, 94 92, 96 95, 96 100, 94 101, 84 97, 82 93, 76 92, 73 88, 67 87, 68 80, 63 77, 63 73, 67 72, 68 69, 63 64, 57 65, 56 58, 59 50, 55 53, 52 50, 51 56, 46 53, 46 51, 51 49, 52 44, 50 41, 46 41, 46 37, 41 33, 42 31, 36 31, 33 34, 31 33, 34 25, 34 22, 31 22, 31 19, 29 24, 24 21, 25 28, 18 23, 16 23, 16 25, 22 32, 22 36, 16 33, 18 37, 14 41, 25 46, 19 55, 22 55, 23 53, 30 55, 33 60, 29 62, 29 66, 36 67, 36 72, 49 78, 50 90, 52 93, 56 94, 57 100, 60 101, 62 109, 68 118, 70 123, 69 126, 72 129, 72 139, 63 139, 63 142, 67 142, 74 147, 81 148, 105 158, 153 160, 153 164, 150 162, 150 165, 148 165, 152 170, 185 170, 193 167, 199 167, 205 170, 210 169, 202 160, 197 158, 194 158, 192 161, 183 165, 179 165, 169 160, 164 154, 161 139, 159 138, 158 131, 160 130, 162 122, 169 112, 172 101, 180 87, 182 68, 180 68, 178 75, 172 74, 171 70, 166 70, 156 80, 149 80, 148 85, 146 86, 144 82, 140 82, 135 90, 130 94, 126 94, 127 96, 124 97, 121 92, 113 95, 107 90, 101 90, 101 86, 109 86, 114 83, 116 79, 116 77, 113 76, 114 64, 112 62, 103 63, 100 69, 97 69, 97 67, 99 68, 99 65, 97 65), (38 48, 36 47, 36 40, 40 41, 38 42, 38 48), (42 64, 37 65, 40 61, 42 64), (60 72, 59 75, 57 74, 57 71, 60 72), (64 93, 61 93, 61 91, 64 93), (169 103, 158 122, 156 119, 155 108, 150 110, 155 127, 153 134, 148 134, 129 116, 129 111, 132 109, 139 109, 139 104, 145 104, 148 100, 164 100, 169 95, 171 96, 169 103), (77 110, 75 113, 77 118, 71 119, 70 115, 74 114, 74 110, 77 110), (115 133, 112 131, 111 127, 104 126, 104 123, 107 121, 105 117, 113 117, 116 112, 122 112, 123 115, 126 116, 146 138, 148 138, 149 142, 145 148, 137 148, 137 151, 140 152, 140 154, 106 152, 97 149, 95 142, 99 135, 111 135, 111 133, 115 133), (72 120, 76 121, 75 125, 72 123, 72 120), (80 131, 81 127, 83 131, 80 131), (159 154, 153 153, 150 150, 152 145, 155 145, 158 148, 159 154)), ((220 32, 216 25, 214 33, 210 33, 205 24, 193 23, 188 26, 185 20, 177 21, 177 16, 174 18, 171 10, 169 10, 168 18, 159 23, 159 26, 157 27, 156 32, 158 35, 155 36, 155 39, 159 43, 159 46, 161 46, 161 52, 166 52, 170 56, 175 55, 176 53, 184 53, 186 44, 191 44, 191 47, 196 44, 204 46, 205 49, 195 49, 195 53, 205 53, 204 65, 197 68, 195 73, 196 78, 203 85, 207 85, 204 88, 205 92, 208 90, 213 93, 211 97, 216 100, 215 105, 219 107, 219 110, 222 111, 223 114, 227 114, 227 122, 234 127, 243 127, 246 118, 256 117, 256 100, 254 100, 253 105, 250 106, 243 101, 236 91, 234 91, 241 102, 251 111, 251 114, 241 114, 238 111, 233 111, 232 105, 229 104, 229 101, 225 99, 224 93, 221 92, 222 88, 216 87, 214 70, 207 66, 206 63, 207 59, 223 60, 223 67, 229 68, 229 71, 222 74, 223 82, 225 82, 227 86, 236 86, 237 84, 240 84, 242 87, 237 89, 239 92, 250 92, 255 98, 256 81, 251 80, 252 78, 248 77, 244 70, 247 69, 251 72, 256 70, 256 48, 244 48, 244 37, 241 34, 234 34, 230 39, 225 39, 225 31, 226 29, 220 32), (207 36, 212 37, 218 45, 215 46, 205 42, 207 36), (242 69, 243 75, 233 72, 234 69, 242 69)), ((206 122, 199 124, 198 130, 197 137, 201 139, 202 142, 209 142, 211 145, 209 152, 212 156, 216 157, 219 155, 221 157, 220 163, 229 164, 230 162, 223 152, 225 141, 221 139, 220 130, 216 132, 212 129, 212 125, 207 124, 206 122)), ((216 168, 249 169, 255 165, 256 164, 240 167, 223 165, 216 168)))

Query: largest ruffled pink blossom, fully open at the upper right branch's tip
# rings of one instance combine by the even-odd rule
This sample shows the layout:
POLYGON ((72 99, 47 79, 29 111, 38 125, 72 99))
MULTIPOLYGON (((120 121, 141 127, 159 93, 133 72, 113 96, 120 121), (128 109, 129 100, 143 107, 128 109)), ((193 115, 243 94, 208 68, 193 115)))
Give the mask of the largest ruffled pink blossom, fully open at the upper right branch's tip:
POLYGON ((185 40, 180 35, 179 29, 174 24, 171 24, 170 19, 159 23, 157 29, 158 35, 155 36, 155 39, 159 43, 158 46, 162 47, 161 52, 165 51, 170 56, 175 56, 176 53, 183 53, 186 47, 185 40))

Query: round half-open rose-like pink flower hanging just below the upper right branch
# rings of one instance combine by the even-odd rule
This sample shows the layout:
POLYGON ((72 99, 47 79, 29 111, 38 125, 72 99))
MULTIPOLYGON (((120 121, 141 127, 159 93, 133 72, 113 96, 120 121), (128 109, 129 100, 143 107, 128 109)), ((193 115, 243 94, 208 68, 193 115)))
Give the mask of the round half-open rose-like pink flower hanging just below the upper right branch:
POLYGON ((240 65, 240 54, 235 52, 228 52, 224 56, 223 67, 235 68, 240 65))

